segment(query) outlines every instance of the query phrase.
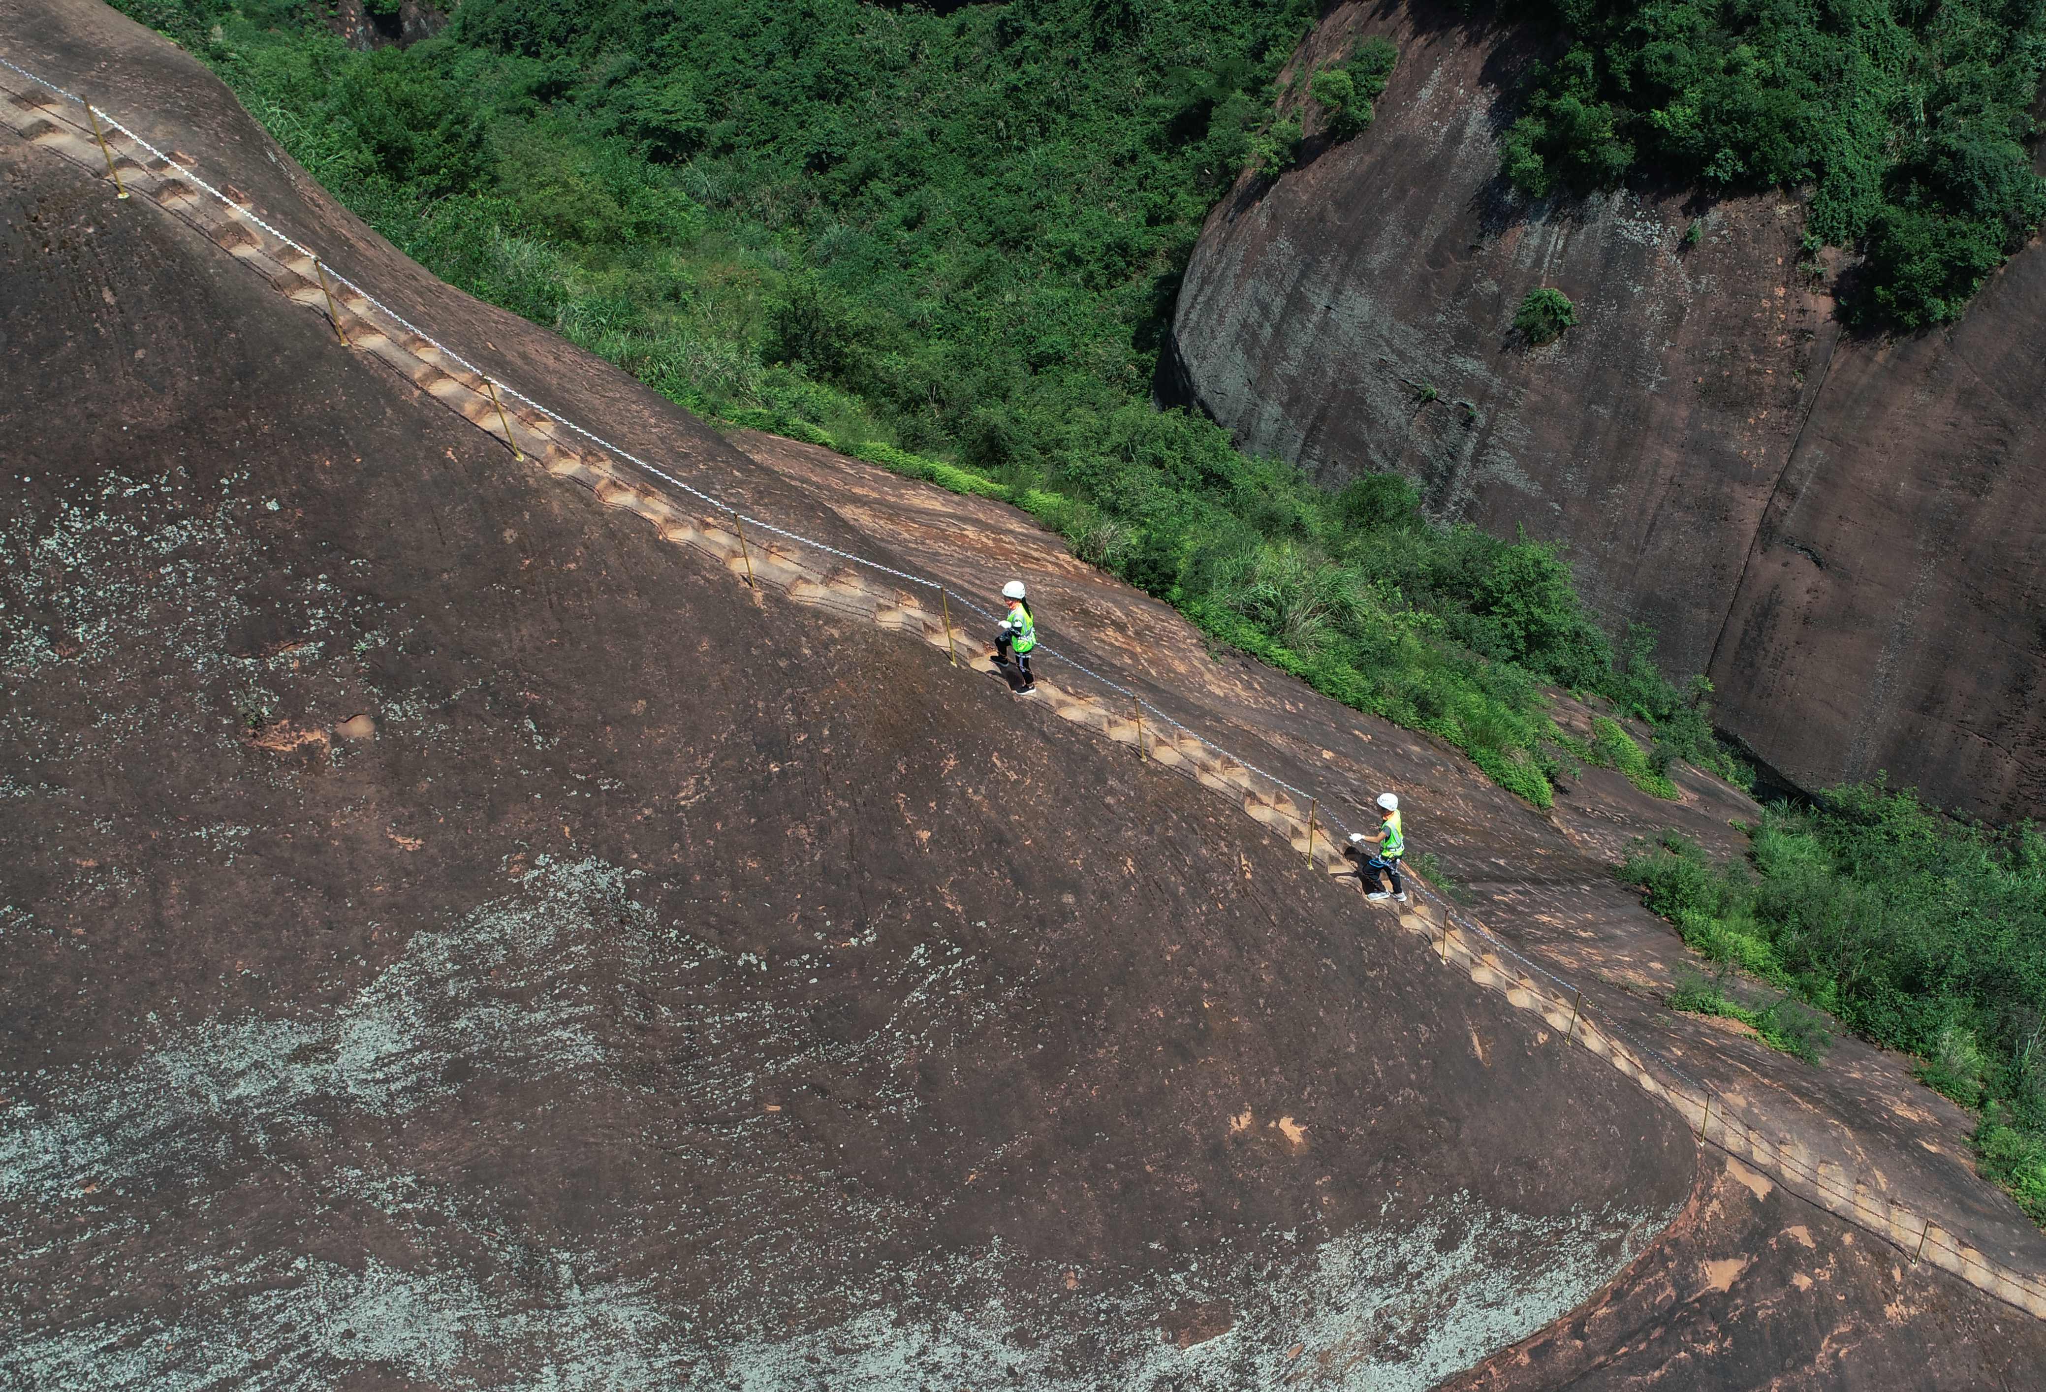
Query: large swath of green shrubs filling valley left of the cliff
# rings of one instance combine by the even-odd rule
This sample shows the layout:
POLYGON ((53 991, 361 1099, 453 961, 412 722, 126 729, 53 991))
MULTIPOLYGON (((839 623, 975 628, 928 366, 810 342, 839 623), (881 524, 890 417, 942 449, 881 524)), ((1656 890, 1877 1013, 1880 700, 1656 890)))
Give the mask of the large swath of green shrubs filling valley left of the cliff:
MULTIPOLYGON (((1723 762, 1708 688, 1616 665, 1555 549, 1152 409, 1209 203, 1297 139, 1273 78, 1314 4, 466 0, 374 53, 276 0, 125 4, 417 260, 692 409, 1007 497, 1532 802, 1573 751, 1543 682, 1657 721, 1657 768, 1723 762)), ((1330 70, 1350 111, 1393 59, 1330 70)))

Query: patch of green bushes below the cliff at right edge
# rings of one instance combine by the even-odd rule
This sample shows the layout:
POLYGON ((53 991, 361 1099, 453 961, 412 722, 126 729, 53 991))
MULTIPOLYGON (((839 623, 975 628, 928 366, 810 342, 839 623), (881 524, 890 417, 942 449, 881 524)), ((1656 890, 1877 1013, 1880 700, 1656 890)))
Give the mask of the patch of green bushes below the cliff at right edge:
POLYGON ((1676 833, 1622 876, 1688 944, 1915 1054, 1976 1110, 1983 1169, 2046 1222, 2046 837, 1882 786, 1772 809, 1745 862, 1676 833))

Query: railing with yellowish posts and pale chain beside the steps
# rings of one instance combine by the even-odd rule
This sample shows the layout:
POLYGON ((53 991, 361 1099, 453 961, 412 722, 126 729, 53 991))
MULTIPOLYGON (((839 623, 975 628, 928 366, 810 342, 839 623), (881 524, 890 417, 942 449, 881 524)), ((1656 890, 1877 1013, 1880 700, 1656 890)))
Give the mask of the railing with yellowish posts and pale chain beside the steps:
MULTIPOLYGON (((55 94, 55 96, 59 96, 63 100, 76 102, 78 106, 82 106, 86 111, 88 123, 92 127, 92 137, 96 139, 96 143, 100 147, 100 154, 106 158, 106 176, 115 182, 115 186, 117 186, 117 190, 119 190, 119 194, 123 199, 129 197, 129 190, 127 190, 127 186, 121 180, 117 156, 115 156, 113 145, 108 141, 108 133, 127 137, 137 149, 149 154, 158 164, 174 168, 178 172, 180 180, 184 180, 192 188, 196 188, 196 190, 213 197, 215 201, 219 201, 223 207, 229 209, 229 213, 233 217, 239 217, 239 219, 243 219, 243 221, 260 227, 262 231, 270 233, 270 237, 274 237, 280 246, 291 248, 297 254, 301 254, 307 260, 311 260, 313 266, 315 266, 315 272, 319 274, 321 291, 323 291, 323 295, 327 299, 329 319, 333 321, 336 332, 342 338, 342 344, 348 344, 348 338, 346 338, 346 332, 342 330, 340 313, 338 313, 338 309, 333 309, 333 299, 336 299, 333 287, 340 287, 342 291, 352 291, 356 297, 360 297, 360 301, 364 305, 372 307, 389 323, 393 323, 395 328, 411 334, 419 342, 432 346, 448 362, 454 362, 454 364, 466 368, 469 373, 477 375, 479 379, 483 379, 483 383, 491 391, 491 399, 497 403, 499 416, 503 416, 503 405, 501 405, 501 401, 497 401, 497 393, 501 391, 505 397, 511 397, 514 401, 524 403, 526 407, 530 407, 532 411, 536 411, 540 418, 544 418, 548 422, 554 422, 554 424, 563 426, 565 430, 571 430, 573 434, 581 436, 583 440, 587 440, 589 444, 597 446, 606 454, 612 454, 614 459, 630 463, 634 469, 638 469, 647 477, 659 479, 661 483, 667 483, 669 487, 675 487, 681 493, 687 493, 690 497, 696 497, 698 502, 706 504, 714 512, 730 516, 732 522, 735 522, 735 528, 739 528, 739 538, 741 538, 741 547, 743 549, 745 549, 745 532, 743 532, 743 528, 751 526, 757 532, 780 536, 782 540, 794 542, 798 547, 804 547, 804 549, 810 549, 810 551, 816 551, 816 553, 822 553, 822 555, 829 555, 829 557, 837 557, 839 561, 847 561, 851 565, 857 565, 857 567, 863 567, 863 569, 888 575, 888 577, 904 581, 908 585, 919 585, 923 590, 933 590, 933 592, 939 594, 941 604, 945 606, 947 614, 949 614, 949 606, 953 602, 958 602, 962 608, 966 608, 968 612, 978 614, 982 618, 988 618, 988 620, 998 620, 1000 618, 992 610, 986 610, 980 604, 974 604, 964 594, 955 594, 943 581, 929 579, 925 575, 917 575, 917 573, 910 573, 910 571, 902 571, 902 569, 896 569, 892 565, 884 565, 884 563, 874 561, 870 557, 861 557, 857 553, 843 551, 843 549, 833 547, 829 542, 816 540, 814 536, 804 536, 802 532, 794 532, 790 528, 777 526, 777 524, 773 524, 773 522, 769 522, 765 518, 755 518, 751 514, 745 514, 739 508, 735 508, 732 504, 726 504, 724 499, 716 497, 714 493, 710 493, 706 489, 700 489, 694 483, 687 483, 687 481, 675 477, 667 469, 663 469, 663 467, 659 467, 659 465, 655 465, 655 463, 651 463, 647 459, 640 459, 638 454, 634 454, 634 452, 630 452, 626 448, 620 448, 618 444, 614 444, 614 442, 606 440, 604 436, 595 434, 593 430, 587 430, 579 422, 569 420, 567 416, 540 405, 538 401, 534 401, 526 393, 518 391, 516 387, 511 387, 505 381, 499 381, 499 379, 491 377, 489 373, 485 373, 483 368, 479 368, 475 362, 471 362, 469 358, 464 358, 462 354, 458 354, 454 348, 446 346, 444 342, 440 342, 438 338, 434 338, 432 334, 428 334, 419 325, 415 325, 409 319, 405 319, 401 313, 397 313, 387 303, 383 303, 379 297, 374 297, 368 289, 364 289, 358 280, 354 280, 350 276, 344 276, 340 270, 336 270, 329 260, 325 260, 323 256, 319 256, 317 252, 313 252, 309 246, 305 246, 297 237, 284 233, 280 227, 276 227, 270 221, 266 221, 264 217, 260 217, 248 203, 237 201, 237 199, 229 197, 227 192, 223 192, 221 188, 215 188, 213 184, 209 184, 207 180, 203 180, 190 166, 186 166, 186 164, 182 164, 178 160, 172 160, 170 154, 166 154, 164 149, 160 149, 158 145, 153 145, 151 141, 147 141, 141 133, 137 133, 127 123, 117 121, 115 117, 110 117, 96 102, 90 102, 84 96, 80 96, 78 92, 72 92, 72 90, 63 88, 63 86, 57 86, 55 82, 49 82, 47 78, 43 78, 43 76, 39 76, 35 72, 29 72, 27 68, 18 66, 18 63, 14 63, 14 61, 10 61, 6 57, 0 57, 0 68, 6 68, 10 72, 18 74, 20 78, 37 84, 39 88, 43 88, 43 90, 47 90, 47 92, 51 92, 51 94, 55 94)), ((505 434, 505 442, 511 444, 514 450, 518 450, 516 440, 511 440, 509 420, 503 422, 503 434, 505 434)), ((751 553, 747 553, 747 571, 749 571, 749 575, 753 571, 751 553)), ((949 618, 945 620, 945 624, 947 624, 947 647, 949 647, 949 618)), ((1203 745, 1209 753, 1217 755, 1226 764, 1242 768, 1246 774, 1252 774, 1252 776, 1260 778, 1262 782, 1271 784, 1273 788, 1279 788, 1279 790, 1289 792, 1291 796, 1303 800, 1307 804, 1307 856, 1309 856, 1309 862, 1314 860, 1314 850, 1316 850, 1316 843, 1314 843, 1314 835, 1316 835, 1316 827, 1318 827, 1316 819, 1320 819, 1320 825, 1324 829, 1332 829, 1334 831, 1334 837, 1330 839, 1330 850, 1340 850, 1342 843, 1346 841, 1348 827, 1342 823, 1342 819, 1338 815, 1334 815, 1332 811, 1328 811, 1330 804, 1324 802, 1318 794, 1305 792, 1305 790, 1293 786, 1291 782, 1279 778, 1277 774, 1273 774, 1273 772, 1269 772, 1264 768, 1258 768, 1256 764, 1250 764, 1248 759, 1236 755, 1234 751, 1226 749, 1224 745, 1207 739, 1205 735, 1201 735, 1193 727, 1189 727, 1183 721, 1178 721, 1178 719, 1166 714, 1164 710, 1160 710, 1154 702, 1146 700, 1144 696, 1140 696, 1129 686, 1123 686, 1121 682, 1115 682, 1113 678, 1103 676, 1095 667, 1082 663, 1078 657, 1072 657, 1068 653, 1060 653, 1058 649, 1054 649, 1054 647, 1050 647, 1046 643, 1039 643, 1031 655, 1033 657, 1046 657, 1046 659, 1050 659, 1054 663, 1070 667, 1072 671, 1078 671, 1078 673, 1086 676, 1097 686, 1107 688, 1109 692, 1115 692, 1115 694, 1127 698, 1131 702, 1131 708, 1138 712, 1138 723, 1140 723, 1138 725, 1138 749, 1140 749, 1140 753, 1142 753, 1142 741, 1144 741, 1142 719, 1148 712, 1150 719, 1156 725, 1168 727, 1168 729, 1176 731, 1178 735, 1183 735, 1187 739, 1193 739, 1195 743, 1203 745)), ((1438 915, 1440 929, 1442 929, 1442 960, 1444 962, 1449 960, 1449 952, 1451 952, 1451 931, 1455 927, 1461 927, 1473 940, 1487 944, 1489 950, 1494 950, 1502 960, 1516 962, 1520 968, 1524 968, 1528 972, 1530 981, 1539 978, 1539 981, 1551 983, 1559 991, 1557 1007, 1563 1009, 1567 1005, 1567 1009, 1569 1009, 1569 1026, 1565 1030, 1565 1044, 1569 1044, 1577 1036, 1580 1030, 1584 1030, 1584 1032, 1598 1032, 1598 1034, 1606 1034, 1610 1038, 1622 1040, 1627 1044, 1627 1048, 1633 1050, 1633 1054, 1635 1054, 1637 1060, 1653 1060, 1653 1064, 1665 1077, 1676 1079, 1686 1089, 1690 1089, 1690 1091, 1696 1093, 1696 1105, 1700 1105, 1698 1138, 1704 1140, 1706 1144, 1713 1144, 1717 1148, 1727 1150, 1729 1155, 1735 1152, 1735 1144, 1733 1144, 1735 1136, 1731 1132, 1731 1128, 1733 1128, 1733 1120, 1731 1120, 1733 1114, 1729 1112, 1729 1103, 1727 1103, 1727 1099, 1725 1099, 1723 1093, 1719 1093, 1708 1083, 1702 1083, 1700 1079, 1696 1079, 1690 1073, 1686 1073, 1684 1069, 1680 1069, 1661 1050, 1645 1044, 1637 1034, 1633 1034, 1618 1019, 1614 1019, 1610 1011, 1604 1011, 1596 1003, 1586 1001, 1584 999, 1584 991, 1580 987, 1575 987, 1567 978, 1559 976, 1551 968, 1543 966, 1541 962, 1534 962, 1526 954, 1518 952, 1516 948, 1512 948, 1510 944, 1506 944, 1498 933, 1494 933, 1489 927, 1485 927, 1483 923, 1471 919, 1467 913, 1463 913, 1461 909, 1457 909, 1457 905, 1453 905, 1440 890, 1436 890, 1434 886, 1428 886, 1426 880, 1420 874, 1416 874, 1410 868, 1404 868, 1402 872, 1408 878, 1412 878, 1412 882, 1416 886, 1416 895, 1424 903, 1432 903, 1434 905, 1434 913, 1438 915), (1721 1136, 1719 1138, 1710 1136, 1710 1122, 1713 1122, 1715 1101, 1719 1105, 1719 1120, 1721 1120, 1721 1136)), ((1420 915, 1420 917, 1426 921, 1426 915, 1420 915)), ((1469 948, 1467 948, 1467 952, 1473 956, 1473 962, 1475 962, 1477 952, 1471 952, 1469 948)), ((1637 1062, 1637 1067, 1641 1067, 1643 1071, 1647 1069, 1645 1062, 1637 1062)), ((1663 1085, 1661 1091, 1672 1093, 1672 1089, 1667 1089, 1667 1085, 1663 1085)), ((1755 1146, 1758 1146, 1755 1134, 1747 1128, 1745 1122, 1741 1122, 1741 1130, 1743 1130, 1743 1136, 1745 1136, 1743 1148, 1749 1155, 1755 1155, 1755 1146)), ((1774 1142, 1770 1142, 1770 1144, 1774 1144, 1774 1142)), ((1778 1171, 1786 1171, 1788 1177, 1794 1177, 1794 1179, 1798 1179, 1798 1181, 1803 1181, 1803 1183, 1819 1189, 1819 1193, 1821 1193, 1821 1200, 1819 1200, 1821 1206, 1829 1208, 1835 1214, 1839 1214, 1839 1208, 1835 1204, 1827 1204, 1825 1202, 1825 1198, 1841 1200, 1841 1195, 1837 1191, 1837 1185, 1833 1185, 1821 1173, 1819 1167, 1807 1167, 1807 1165, 1794 1161, 1790 1155, 1786 1155, 1782 1150, 1780 1144, 1776 1144, 1774 1148, 1776 1148, 1776 1155, 1772 1155, 1768 1159, 1768 1167, 1774 1167, 1778 1171)), ((1811 1195, 1807 1195, 1807 1198, 1811 1198, 1811 1195)), ((1858 1202, 1858 1191, 1856 1191, 1856 1200, 1841 1200, 1841 1202, 1858 1202)), ((1888 1208, 1891 1208, 1893 1216, 1905 1212, 1899 1206, 1888 1206, 1888 1208)), ((1899 1234, 1895 1230, 1895 1226, 1897 1226, 1895 1218, 1888 1224, 1876 1226, 1874 1220, 1870 1220, 1868 1216, 1860 1216, 1858 1212, 1845 1212, 1845 1214, 1839 1214, 1839 1216, 1858 1222, 1858 1226, 1874 1230, 1878 1236, 1891 1241, 1899 1249, 1911 1247, 1907 1241, 1899 1238, 1899 1234)), ((1907 1216, 1919 1222, 1915 1251, 1909 1251, 1909 1255, 1913 1257, 1913 1261, 1921 1259, 1927 1251, 1936 1259, 1946 1257, 1944 1261, 1938 1261, 1938 1265, 1942 1265, 1944 1269, 1956 1271, 1958 1275, 1964 1275, 1964 1279, 1968 1279, 1970 1284, 1987 1290, 1989 1294, 1995 1294, 1995 1296, 2007 1300, 2009 1304, 2015 1304, 2019 1308, 2030 1310, 2032 1314, 2038 1314, 2038 1316, 2046 1318, 2046 1281, 2042 1281, 2040 1277, 2017 1273, 2017 1271, 2013 1271, 2013 1269, 2009 1269, 2009 1267, 2005 1267, 2001 1263, 1983 1259, 1981 1253, 1974 1253, 1972 1249, 1960 1247, 1958 1245, 1960 1238, 1954 1236, 1954 1234, 1950 1234, 1950 1232, 1946 1232, 1946 1230, 1940 1230, 1940 1232, 1942 1232, 1942 1236, 1954 1238, 1952 1243, 1931 1243, 1929 1245, 1927 1238, 1936 1230, 1936 1224, 1929 1218, 1919 1218, 1917 1214, 1907 1214, 1907 1216), (1981 1273, 1987 1273, 1989 1279, 1985 1279, 1985 1275, 1981 1275, 1981 1273)))

